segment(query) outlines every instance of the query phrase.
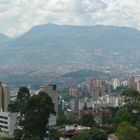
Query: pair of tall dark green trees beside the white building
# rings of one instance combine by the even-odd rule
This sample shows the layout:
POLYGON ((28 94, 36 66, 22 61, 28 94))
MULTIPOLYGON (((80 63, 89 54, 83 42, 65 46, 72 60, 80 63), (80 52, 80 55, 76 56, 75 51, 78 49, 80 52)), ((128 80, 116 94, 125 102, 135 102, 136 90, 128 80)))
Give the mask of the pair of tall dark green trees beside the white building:
POLYGON ((19 89, 17 100, 9 105, 9 110, 18 112, 18 125, 15 139, 43 140, 46 136, 50 114, 54 114, 51 97, 45 92, 30 96, 27 87, 19 89))

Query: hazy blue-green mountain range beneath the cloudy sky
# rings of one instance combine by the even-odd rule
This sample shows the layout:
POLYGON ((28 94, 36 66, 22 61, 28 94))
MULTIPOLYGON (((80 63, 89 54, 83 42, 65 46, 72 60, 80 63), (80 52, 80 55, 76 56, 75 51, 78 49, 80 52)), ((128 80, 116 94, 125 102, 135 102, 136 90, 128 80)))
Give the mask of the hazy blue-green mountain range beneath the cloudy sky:
POLYGON ((44 24, 17 38, 0 34, 0 66, 139 64, 140 31, 115 26, 44 24))

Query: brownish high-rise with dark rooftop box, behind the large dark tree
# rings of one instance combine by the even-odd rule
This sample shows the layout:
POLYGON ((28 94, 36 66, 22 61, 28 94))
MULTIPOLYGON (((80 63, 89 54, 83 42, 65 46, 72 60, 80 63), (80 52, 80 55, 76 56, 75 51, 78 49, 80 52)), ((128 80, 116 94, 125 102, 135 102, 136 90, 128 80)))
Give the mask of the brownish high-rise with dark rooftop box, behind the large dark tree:
POLYGON ((41 87, 41 91, 46 92, 51 98, 54 103, 54 109, 56 112, 56 115, 58 114, 58 91, 57 86, 53 84, 49 84, 47 86, 41 87))

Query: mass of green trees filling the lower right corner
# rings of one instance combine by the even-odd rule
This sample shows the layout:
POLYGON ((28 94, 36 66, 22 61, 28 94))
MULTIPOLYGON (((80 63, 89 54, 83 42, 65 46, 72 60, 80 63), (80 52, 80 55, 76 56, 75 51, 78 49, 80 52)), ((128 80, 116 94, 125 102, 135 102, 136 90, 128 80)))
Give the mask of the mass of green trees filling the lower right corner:
MULTIPOLYGON (((95 128, 95 124, 92 123, 91 130, 73 136, 71 140, 104 140, 109 134, 114 134, 118 140, 140 140, 140 94, 135 89, 125 89, 122 96, 125 104, 120 108, 110 108, 112 119, 106 120, 105 118, 107 124, 102 127, 96 125, 95 128), (100 132, 100 135, 96 132, 100 132)), ((87 121, 83 121, 84 124, 82 124, 88 124, 87 121)))

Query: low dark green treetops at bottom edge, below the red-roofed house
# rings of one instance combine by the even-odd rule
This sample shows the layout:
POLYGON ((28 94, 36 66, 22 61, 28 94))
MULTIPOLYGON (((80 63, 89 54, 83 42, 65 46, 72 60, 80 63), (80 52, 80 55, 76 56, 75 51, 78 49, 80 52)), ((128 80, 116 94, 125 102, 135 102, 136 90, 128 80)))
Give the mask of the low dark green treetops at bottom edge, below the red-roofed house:
POLYGON ((71 140, 107 140, 107 133, 102 129, 92 128, 73 136, 71 140))

